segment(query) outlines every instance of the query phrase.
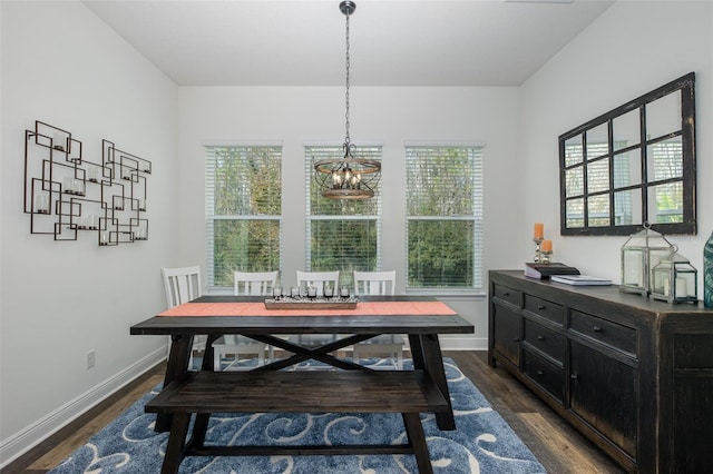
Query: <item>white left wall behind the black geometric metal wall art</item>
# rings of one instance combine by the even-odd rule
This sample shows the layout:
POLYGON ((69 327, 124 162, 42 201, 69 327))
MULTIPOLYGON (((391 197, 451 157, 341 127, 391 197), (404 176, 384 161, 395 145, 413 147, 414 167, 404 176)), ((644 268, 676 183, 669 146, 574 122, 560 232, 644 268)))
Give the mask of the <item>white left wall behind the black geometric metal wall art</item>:
POLYGON ((1 2, 2 174, 0 460, 7 463, 165 355, 129 326, 165 306, 176 263, 177 87, 80 2, 1 2), (148 241, 30 235, 22 213, 25 130, 70 130, 84 157, 101 140, 153 162, 148 241), (96 366, 87 369, 88 350, 96 366))

